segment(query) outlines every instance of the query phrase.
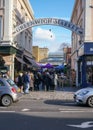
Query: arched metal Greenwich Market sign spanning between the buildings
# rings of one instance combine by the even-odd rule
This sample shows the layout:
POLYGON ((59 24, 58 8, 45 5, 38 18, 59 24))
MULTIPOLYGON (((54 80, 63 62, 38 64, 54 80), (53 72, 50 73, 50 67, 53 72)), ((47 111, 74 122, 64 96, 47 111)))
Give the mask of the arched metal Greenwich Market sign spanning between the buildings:
POLYGON ((32 20, 30 22, 25 22, 19 26, 17 26, 14 31, 13 35, 17 35, 20 32, 24 31, 25 29, 28 29, 30 27, 39 26, 39 25, 56 25, 61 26, 64 28, 67 28, 71 30, 72 32, 75 32, 77 35, 82 36, 83 35, 83 29, 78 27, 77 25, 73 24, 72 22, 63 20, 63 19, 57 19, 57 18, 39 18, 32 20))

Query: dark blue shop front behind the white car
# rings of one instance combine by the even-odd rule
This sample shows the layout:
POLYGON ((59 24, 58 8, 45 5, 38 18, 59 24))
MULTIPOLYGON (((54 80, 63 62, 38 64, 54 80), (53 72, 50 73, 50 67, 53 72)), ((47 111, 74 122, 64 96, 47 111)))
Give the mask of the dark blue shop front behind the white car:
POLYGON ((78 50, 78 85, 93 85, 93 42, 84 43, 78 50))

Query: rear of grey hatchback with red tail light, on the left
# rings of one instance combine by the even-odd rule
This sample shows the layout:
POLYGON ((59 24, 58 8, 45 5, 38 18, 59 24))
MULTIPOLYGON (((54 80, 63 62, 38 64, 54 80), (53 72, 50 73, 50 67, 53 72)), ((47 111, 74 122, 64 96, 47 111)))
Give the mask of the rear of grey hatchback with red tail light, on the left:
POLYGON ((19 100, 22 96, 18 92, 16 84, 7 78, 0 78, 0 102, 3 106, 10 106, 13 102, 19 100))

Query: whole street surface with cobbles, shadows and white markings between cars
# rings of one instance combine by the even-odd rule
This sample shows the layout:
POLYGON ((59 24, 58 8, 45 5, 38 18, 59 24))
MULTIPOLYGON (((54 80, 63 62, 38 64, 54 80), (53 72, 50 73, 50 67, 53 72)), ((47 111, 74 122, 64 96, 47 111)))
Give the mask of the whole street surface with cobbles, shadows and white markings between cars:
POLYGON ((74 91, 30 92, 9 107, 0 106, 0 130, 92 130, 93 108, 76 105, 74 91))

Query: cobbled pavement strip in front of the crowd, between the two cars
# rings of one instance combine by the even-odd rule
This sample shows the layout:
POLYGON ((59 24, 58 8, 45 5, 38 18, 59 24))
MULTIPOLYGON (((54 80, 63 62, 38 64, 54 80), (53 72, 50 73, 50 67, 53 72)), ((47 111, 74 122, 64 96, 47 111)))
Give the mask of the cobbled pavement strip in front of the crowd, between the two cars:
POLYGON ((79 88, 76 87, 63 87, 57 88, 54 91, 30 91, 25 95, 25 98, 33 100, 74 100, 73 95, 79 88))

